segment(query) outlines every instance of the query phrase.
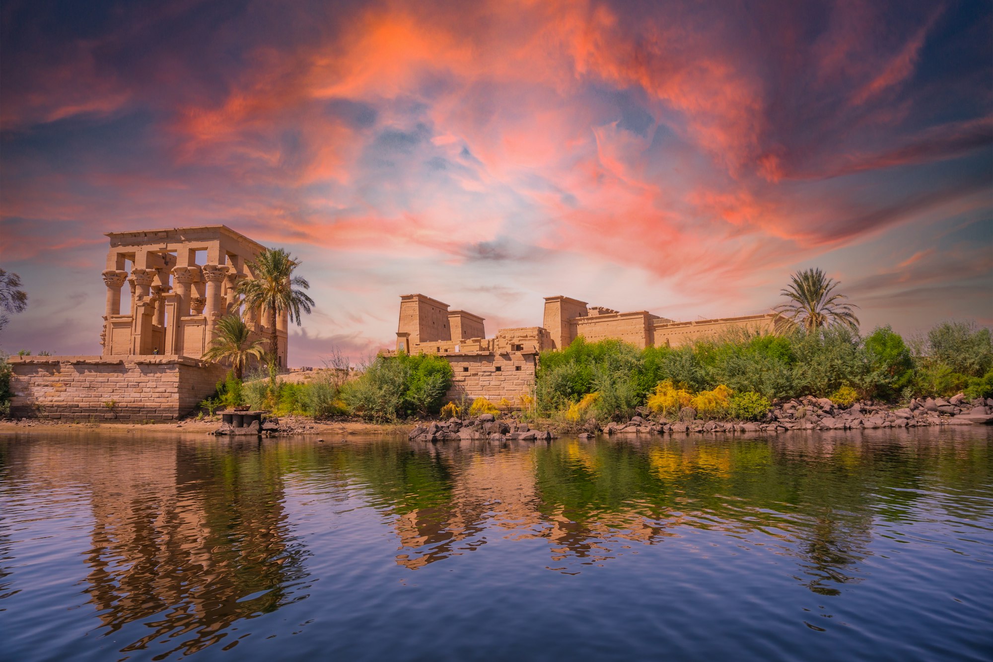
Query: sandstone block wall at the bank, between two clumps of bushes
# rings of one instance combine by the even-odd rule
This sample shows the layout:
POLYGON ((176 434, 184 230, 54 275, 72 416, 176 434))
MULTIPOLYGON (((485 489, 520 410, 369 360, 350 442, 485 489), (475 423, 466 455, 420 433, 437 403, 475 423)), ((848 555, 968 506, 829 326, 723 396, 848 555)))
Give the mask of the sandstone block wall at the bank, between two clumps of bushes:
POLYGON ((454 380, 445 402, 486 398, 495 405, 506 399, 521 406, 521 396, 534 395, 533 352, 464 352, 443 355, 452 365, 454 380))

